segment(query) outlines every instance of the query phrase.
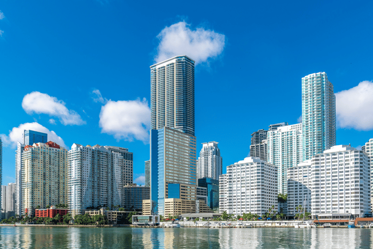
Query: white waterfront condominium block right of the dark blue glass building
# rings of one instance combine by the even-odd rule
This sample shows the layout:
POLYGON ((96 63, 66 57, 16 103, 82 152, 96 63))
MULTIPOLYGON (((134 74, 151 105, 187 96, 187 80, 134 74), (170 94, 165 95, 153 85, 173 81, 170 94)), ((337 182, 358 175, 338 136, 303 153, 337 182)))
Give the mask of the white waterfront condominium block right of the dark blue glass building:
POLYGON ((277 167, 259 158, 245 158, 227 166, 219 177, 219 212, 263 215, 277 211, 277 167))

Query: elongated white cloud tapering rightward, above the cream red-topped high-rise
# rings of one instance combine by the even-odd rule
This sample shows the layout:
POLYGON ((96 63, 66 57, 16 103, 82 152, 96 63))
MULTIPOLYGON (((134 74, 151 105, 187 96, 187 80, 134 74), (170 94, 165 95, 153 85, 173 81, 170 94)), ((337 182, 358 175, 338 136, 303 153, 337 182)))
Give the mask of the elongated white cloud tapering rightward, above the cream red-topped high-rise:
POLYGON ((57 117, 63 125, 86 124, 76 111, 69 110, 65 105, 62 100, 38 91, 26 94, 22 100, 22 108, 30 115, 48 114, 57 117))

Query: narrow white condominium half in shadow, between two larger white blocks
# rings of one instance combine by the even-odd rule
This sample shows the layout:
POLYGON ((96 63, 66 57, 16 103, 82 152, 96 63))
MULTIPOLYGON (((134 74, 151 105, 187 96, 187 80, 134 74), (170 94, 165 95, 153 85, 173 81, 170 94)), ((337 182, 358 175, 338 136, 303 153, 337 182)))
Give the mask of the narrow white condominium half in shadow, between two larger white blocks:
POLYGON ((311 213, 312 172, 311 160, 305 160, 297 166, 288 168, 288 215, 299 213, 296 207, 301 205, 305 212, 311 213))

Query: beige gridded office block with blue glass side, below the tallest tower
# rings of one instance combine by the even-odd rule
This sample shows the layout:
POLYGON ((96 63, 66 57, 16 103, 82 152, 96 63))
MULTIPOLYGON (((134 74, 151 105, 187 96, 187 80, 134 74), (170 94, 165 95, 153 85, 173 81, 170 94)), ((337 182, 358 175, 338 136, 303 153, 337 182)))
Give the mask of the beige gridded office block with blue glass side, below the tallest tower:
POLYGON ((151 200, 157 213, 165 215, 170 183, 196 185, 196 137, 164 127, 150 131, 151 200))

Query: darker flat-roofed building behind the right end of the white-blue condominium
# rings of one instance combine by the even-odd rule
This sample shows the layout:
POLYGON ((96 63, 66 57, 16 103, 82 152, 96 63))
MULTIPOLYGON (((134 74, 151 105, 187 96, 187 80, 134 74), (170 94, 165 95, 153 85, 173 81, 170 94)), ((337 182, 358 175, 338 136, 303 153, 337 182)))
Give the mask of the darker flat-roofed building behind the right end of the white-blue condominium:
POLYGON ((116 156, 113 159, 116 160, 114 164, 118 163, 122 174, 121 184, 132 184, 134 182, 134 153, 129 152, 127 148, 118 146, 103 146, 105 149, 119 153, 119 157, 116 156))

